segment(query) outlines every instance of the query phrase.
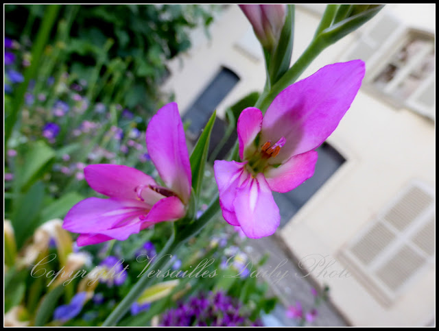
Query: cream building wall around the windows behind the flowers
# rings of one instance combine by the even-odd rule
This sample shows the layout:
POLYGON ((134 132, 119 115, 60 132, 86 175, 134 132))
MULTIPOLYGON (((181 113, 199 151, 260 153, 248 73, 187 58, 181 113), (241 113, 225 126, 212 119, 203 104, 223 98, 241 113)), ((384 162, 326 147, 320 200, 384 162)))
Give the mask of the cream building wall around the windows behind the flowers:
MULTIPOLYGON (((315 8, 297 6, 293 61, 309 44, 321 10, 321 5, 315 8)), ((434 29, 436 16, 431 14, 428 5, 420 8, 420 14, 415 10, 415 14, 410 14, 403 5, 390 5, 385 10, 411 27, 434 29)), ((346 53, 372 23, 370 21, 359 32, 346 36, 321 53, 302 77, 326 64, 346 60, 346 53)), ((244 14, 237 6, 230 6, 211 28, 211 40, 198 32, 194 36, 195 47, 169 64, 171 77, 165 89, 174 90, 182 114, 221 66, 234 71, 240 80, 217 108, 219 117, 224 117, 226 106, 254 90, 262 90, 263 59, 259 53, 258 60, 258 48, 254 47, 257 41, 250 31, 244 14)), ((366 70, 369 64, 366 62, 366 70)), ((319 256, 326 256, 325 263, 333 263, 325 269, 327 277, 319 275, 323 265, 316 269, 308 265, 305 273, 309 272, 309 277, 322 286, 330 286, 333 304, 352 325, 428 325, 434 319, 434 258, 403 293, 383 304, 359 277, 353 274, 346 277, 346 273, 340 277, 340 272, 349 266, 338 256, 412 180, 434 188, 433 121, 411 110, 394 108, 361 88, 351 109, 327 141, 346 158, 346 162, 298 214, 278 230, 278 234, 298 260, 314 257, 315 261, 320 261, 319 256), (329 277, 331 271, 335 272, 329 277)), ((311 261, 309 258, 307 263, 311 261)))

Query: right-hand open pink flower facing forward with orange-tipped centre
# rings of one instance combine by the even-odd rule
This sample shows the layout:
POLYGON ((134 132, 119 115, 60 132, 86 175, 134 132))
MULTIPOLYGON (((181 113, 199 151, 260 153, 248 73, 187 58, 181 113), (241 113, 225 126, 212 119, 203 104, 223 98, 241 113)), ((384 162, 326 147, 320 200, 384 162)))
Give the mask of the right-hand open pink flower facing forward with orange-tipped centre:
POLYGON ((272 191, 285 193, 311 177, 314 150, 335 130, 364 77, 354 60, 320 69, 288 86, 265 116, 246 108, 237 123, 242 162, 217 160, 215 180, 224 219, 249 238, 270 236, 281 220, 272 191))

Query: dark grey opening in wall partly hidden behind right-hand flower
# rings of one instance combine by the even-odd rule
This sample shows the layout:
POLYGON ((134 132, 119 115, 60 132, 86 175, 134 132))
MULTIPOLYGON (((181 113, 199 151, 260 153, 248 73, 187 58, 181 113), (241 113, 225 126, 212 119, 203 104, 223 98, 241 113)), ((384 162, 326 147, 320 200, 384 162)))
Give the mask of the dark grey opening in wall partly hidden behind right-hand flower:
POLYGON ((288 223, 298 210, 318 191, 329 177, 337 171, 345 159, 328 143, 318 149, 318 159, 313 177, 287 193, 273 192, 274 200, 281 211, 281 226, 288 223))

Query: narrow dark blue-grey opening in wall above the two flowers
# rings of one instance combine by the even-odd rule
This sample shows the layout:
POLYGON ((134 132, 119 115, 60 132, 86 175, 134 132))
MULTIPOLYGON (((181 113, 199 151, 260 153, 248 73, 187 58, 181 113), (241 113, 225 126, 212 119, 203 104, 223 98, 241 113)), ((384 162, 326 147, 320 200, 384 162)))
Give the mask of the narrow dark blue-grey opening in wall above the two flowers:
POLYGON ((228 95, 237 82, 239 82, 239 77, 233 71, 222 68, 204 89, 200 97, 187 110, 183 121, 189 122, 187 134, 193 143, 200 136, 201 130, 209 121, 209 117, 211 117, 215 108, 228 95))

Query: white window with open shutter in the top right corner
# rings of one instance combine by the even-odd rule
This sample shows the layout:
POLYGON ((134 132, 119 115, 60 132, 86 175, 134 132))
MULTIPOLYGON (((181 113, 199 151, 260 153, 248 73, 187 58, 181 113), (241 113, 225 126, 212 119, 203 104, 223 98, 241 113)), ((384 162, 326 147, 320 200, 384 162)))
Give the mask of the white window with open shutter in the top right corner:
POLYGON ((366 62, 364 86, 372 93, 434 119, 434 35, 411 29, 385 10, 368 24, 344 60, 366 62))

